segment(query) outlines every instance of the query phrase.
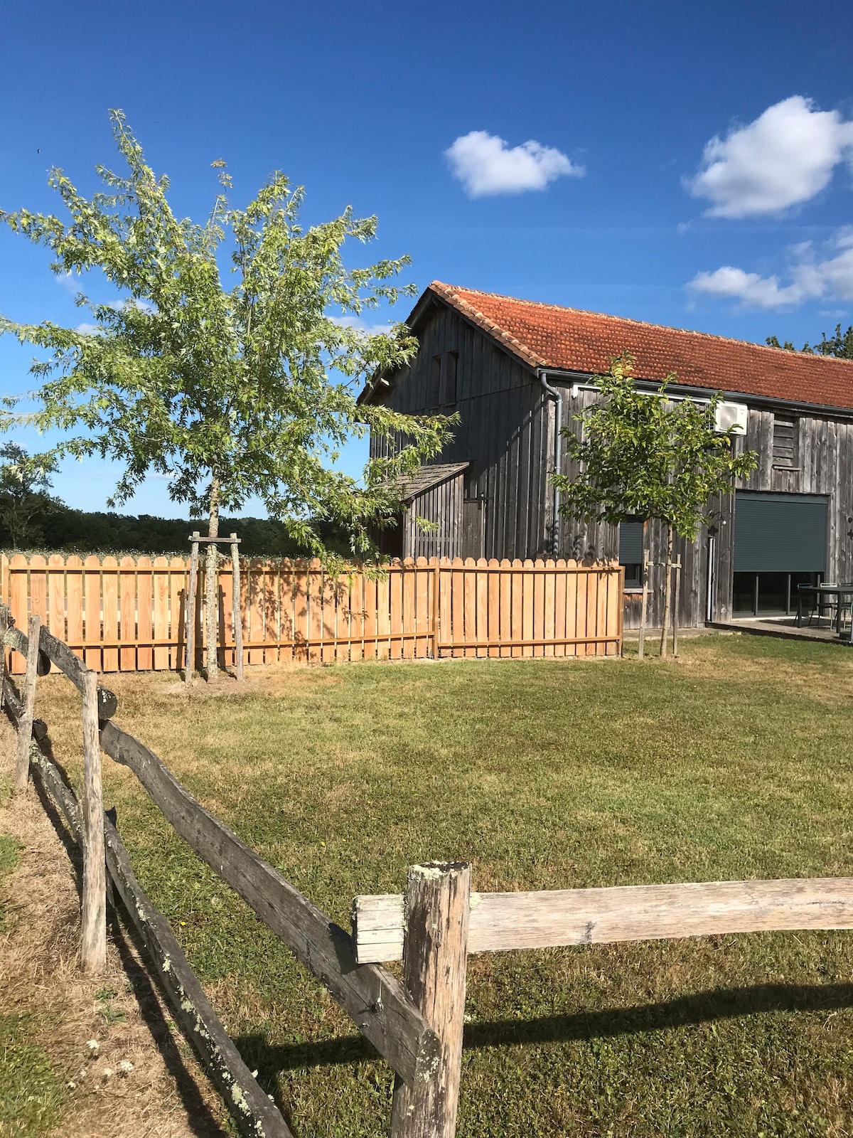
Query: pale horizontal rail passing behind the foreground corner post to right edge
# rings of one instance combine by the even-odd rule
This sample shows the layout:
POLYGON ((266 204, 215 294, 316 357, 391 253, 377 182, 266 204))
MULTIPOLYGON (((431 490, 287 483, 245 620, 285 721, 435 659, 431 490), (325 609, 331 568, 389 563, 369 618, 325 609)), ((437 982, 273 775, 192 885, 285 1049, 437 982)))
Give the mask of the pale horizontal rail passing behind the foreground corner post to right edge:
MULTIPOLYGON (((403 958, 403 910, 399 894, 355 898, 359 963, 403 958)), ((472 893, 469 953, 796 929, 853 929, 853 877, 472 893)))

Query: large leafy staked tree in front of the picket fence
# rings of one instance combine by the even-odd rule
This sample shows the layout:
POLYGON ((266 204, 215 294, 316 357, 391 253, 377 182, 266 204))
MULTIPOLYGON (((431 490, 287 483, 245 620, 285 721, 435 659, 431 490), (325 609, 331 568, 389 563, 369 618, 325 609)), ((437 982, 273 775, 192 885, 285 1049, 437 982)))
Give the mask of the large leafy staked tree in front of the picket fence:
MULTIPOLYGON (((245 209, 234 208, 221 159, 213 166, 222 189, 207 222, 179 220, 168 180, 146 164, 124 115, 110 117, 125 175, 99 166, 106 190, 86 199, 52 171, 50 184, 71 215, 65 224, 26 209, 0 212, 15 232, 52 251, 55 273, 100 270, 122 297, 92 304, 78 294, 94 323, 76 329, 0 320, 0 332, 49 352, 33 364, 43 382, 38 410, 25 418, 66 431, 55 455, 100 454, 123 464, 110 506, 157 472, 171 479, 174 501, 207 516, 210 537, 221 510, 257 495, 313 553, 325 553, 318 522, 342 526, 353 555, 371 553, 368 523, 390 523, 400 505, 394 487, 449 436, 448 419, 356 402, 365 378, 416 352, 403 324, 359 330, 365 311, 413 295, 413 287, 391 283, 408 258, 348 269, 342 246, 372 240, 375 217, 359 220, 347 208, 305 229, 304 191, 278 172, 245 209), (226 288, 221 261, 229 254, 235 280, 226 288), (336 468, 338 448, 371 429, 404 443, 371 460, 356 480, 336 468)), ((16 421, 15 405, 7 401, 7 424, 16 421)), ((217 671, 216 564, 209 545, 208 678, 217 671)))

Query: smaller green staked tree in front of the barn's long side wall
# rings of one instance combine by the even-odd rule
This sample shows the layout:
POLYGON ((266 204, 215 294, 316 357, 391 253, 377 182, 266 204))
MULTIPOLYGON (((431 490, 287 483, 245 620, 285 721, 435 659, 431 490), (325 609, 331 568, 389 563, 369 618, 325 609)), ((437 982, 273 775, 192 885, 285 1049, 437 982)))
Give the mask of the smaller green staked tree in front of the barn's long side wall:
POLYGON ((689 398, 673 403, 666 388, 674 372, 649 393, 637 389, 632 371, 633 356, 626 352, 613 358, 606 376, 597 377, 602 402, 574 417, 582 424, 580 437, 571 427, 563 428, 565 451, 579 464, 578 473, 555 473, 552 479, 566 517, 611 525, 655 519, 666 527, 663 657, 674 535, 694 542, 699 527, 712 521, 711 498, 730 494, 735 479, 754 470, 757 459, 752 451, 735 454, 735 428, 717 430, 721 393, 707 404, 689 398))

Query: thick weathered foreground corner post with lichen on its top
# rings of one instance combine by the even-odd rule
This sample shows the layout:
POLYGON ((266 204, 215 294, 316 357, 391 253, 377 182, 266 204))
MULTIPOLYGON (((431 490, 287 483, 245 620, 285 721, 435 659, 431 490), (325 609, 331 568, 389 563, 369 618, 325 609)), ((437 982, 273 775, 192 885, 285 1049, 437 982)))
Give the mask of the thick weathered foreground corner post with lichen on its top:
POLYGON ((441 1041, 431 1079, 398 1077, 391 1138, 454 1138, 465 1023, 471 866, 415 865, 408 871, 403 974, 419 1011, 441 1041))

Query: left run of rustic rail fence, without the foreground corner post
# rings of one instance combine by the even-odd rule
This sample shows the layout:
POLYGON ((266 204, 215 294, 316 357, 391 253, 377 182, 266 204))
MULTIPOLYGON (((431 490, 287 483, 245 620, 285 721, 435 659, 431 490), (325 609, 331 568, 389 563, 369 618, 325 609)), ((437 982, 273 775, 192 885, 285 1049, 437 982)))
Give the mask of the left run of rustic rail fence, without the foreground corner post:
MULTIPOLYGON (((44 628, 39 627, 38 616, 31 621, 35 629, 31 641, 11 626, 6 607, 0 607, 0 618, 7 619, 5 645, 28 658, 27 681, 34 687, 40 658, 52 663, 67 665, 67 646, 59 643, 44 628), (36 640, 38 637, 38 640, 36 640)), ((0 619, 0 624, 2 620, 0 619)), ((65 670, 65 669, 63 669, 65 670)), ((111 715, 111 692, 94 690, 93 673, 80 665, 71 668, 71 678, 83 688, 84 719, 86 700, 94 721, 102 709, 111 715)), ((148 955, 157 970, 164 989, 173 1004, 176 1019, 204 1061, 213 1081, 234 1118, 238 1128, 251 1138, 292 1138, 278 1107, 256 1082, 229 1038, 192 972, 183 951, 172 933, 168 922, 141 890, 126 850, 108 813, 91 811, 92 778, 98 782, 100 801, 100 764, 90 765, 85 756, 85 793, 83 806, 50 758, 45 725, 32 719, 32 698, 15 688, 10 677, 2 677, 5 706, 18 729, 24 744, 26 776, 33 773, 50 793, 65 815, 74 840, 82 846, 83 897, 88 887, 98 881, 101 904, 105 904, 106 872, 125 902, 130 920, 136 926, 148 955), (27 711, 30 712, 27 715, 27 711), (39 724, 40 729, 36 728, 39 724), (32 733, 32 734, 31 734, 32 733), (97 774, 96 774, 97 770, 97 774), (89 820, 86 820, 89 819, 89 820), (91 865, 90 851, 98 846, 92 841, 98 833, 105 844, 99 846, 101 860, 91 865), (106 848, 105 848, 106 847, 106 848)), ((353 940, 307 897, 300 893, 276 869, 245 846, 235 834, 204 809, 184 790, 162 760, 143 743, 127 734, 108 718, 97 725, 96 749, 100 748, 133 770, 155 803, 175 831, 251 906, 257 916, 275 932, 293 955, 323 983, 340 1006, 347 1011, 359 1031, 395 1070, 404 1086, 429 1085, 440 1074, 440 1040, 428 1019, 406 987, 390 972, 375 964, 359 965, 355 958, 353 940)), ((101 947, 106 951, 106 932, 101 929, 101 947)), ((83 948, 85 948, 85 906, 83 912, 83 948)), ((84 963, 84 962, 83 962, 84 963)), ((403 1138, 413 1138, 408 1129, 403 1138)))

